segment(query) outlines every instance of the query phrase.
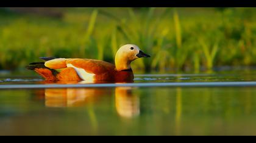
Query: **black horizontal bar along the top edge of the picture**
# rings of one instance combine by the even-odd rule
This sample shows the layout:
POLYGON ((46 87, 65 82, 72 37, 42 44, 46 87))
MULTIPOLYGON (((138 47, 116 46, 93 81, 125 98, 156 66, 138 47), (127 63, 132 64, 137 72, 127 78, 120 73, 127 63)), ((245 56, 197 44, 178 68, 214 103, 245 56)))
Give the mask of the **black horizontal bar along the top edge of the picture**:
POLYGON ((2 7, 254 7, 254 0, 10 0, 2 7))

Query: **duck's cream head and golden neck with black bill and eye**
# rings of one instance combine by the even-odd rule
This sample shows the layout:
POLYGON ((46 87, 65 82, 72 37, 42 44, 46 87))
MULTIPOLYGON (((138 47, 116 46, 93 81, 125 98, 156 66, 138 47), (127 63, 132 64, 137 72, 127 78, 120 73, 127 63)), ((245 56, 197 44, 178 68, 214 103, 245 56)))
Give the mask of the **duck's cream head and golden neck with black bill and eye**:
POLYGON ((116 70, 129 70, 130 62, 138 58, 149 58, 151 56, 143 53, 137 45, 126 44, 119 48, 116 52, 115 64, 116 70))

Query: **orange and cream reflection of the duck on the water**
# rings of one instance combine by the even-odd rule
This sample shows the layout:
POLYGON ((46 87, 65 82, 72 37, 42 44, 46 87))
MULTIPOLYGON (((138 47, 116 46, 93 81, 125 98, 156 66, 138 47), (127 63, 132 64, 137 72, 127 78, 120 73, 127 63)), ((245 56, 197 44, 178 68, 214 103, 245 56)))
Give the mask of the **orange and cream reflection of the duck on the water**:
MULTIPOLYGON (((62 83, 63 84, 63 83, 62 83)), ((68 84, 75 84, 74 82, 68 84)), ((97 103, 103 96, 115 94, 115 107, 119 116, 132 118, 140 115, 140 98, 132 87, 115 88, 48 88, 44 90, 46 107, 79 107, 97 103)))

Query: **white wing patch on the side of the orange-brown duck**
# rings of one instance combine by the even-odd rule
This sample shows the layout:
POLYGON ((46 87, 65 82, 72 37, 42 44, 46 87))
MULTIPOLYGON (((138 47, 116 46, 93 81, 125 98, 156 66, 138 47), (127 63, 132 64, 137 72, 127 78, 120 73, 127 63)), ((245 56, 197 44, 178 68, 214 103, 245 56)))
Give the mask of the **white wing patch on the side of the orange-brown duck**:
POLYGON ((87 71, 84 70, 84 68, 77 68, 74 67, 72 64, 66 64, 67 67, 73 67, 76 70, 77 75, 83 79, 84 81, 94 81, 94 75, 93 73, 87 73, 87 71))

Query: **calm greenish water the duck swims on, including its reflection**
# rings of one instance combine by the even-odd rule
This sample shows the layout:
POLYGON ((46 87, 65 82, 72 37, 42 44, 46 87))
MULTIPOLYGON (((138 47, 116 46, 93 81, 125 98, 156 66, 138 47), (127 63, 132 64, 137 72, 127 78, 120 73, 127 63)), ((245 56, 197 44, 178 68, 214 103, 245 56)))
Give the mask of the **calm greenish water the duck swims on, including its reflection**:
POLYGON ((256 88, 243 85, 255 78, 255 70, 154 74, 136 75, 132 87, 32 89, 60 84, 4 75, 0 87, 24 88, 0 90, 0 135, 256 135, 256 88), (140 86, 149 83, 180 85, 140 86))

